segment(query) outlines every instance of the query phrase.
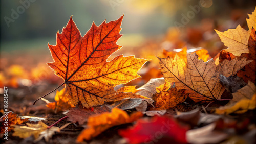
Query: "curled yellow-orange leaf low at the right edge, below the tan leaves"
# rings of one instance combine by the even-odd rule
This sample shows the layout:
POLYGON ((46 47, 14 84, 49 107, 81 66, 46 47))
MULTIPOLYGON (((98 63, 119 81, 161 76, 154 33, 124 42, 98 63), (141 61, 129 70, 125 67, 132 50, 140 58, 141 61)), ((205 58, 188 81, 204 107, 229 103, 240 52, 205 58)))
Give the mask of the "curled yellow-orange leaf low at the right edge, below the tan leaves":
POLYGON ((232 93, 233 99, 230 105, 215 109, 217 114, 244 113, 256 108, 256 86, 252 82, 232 93))

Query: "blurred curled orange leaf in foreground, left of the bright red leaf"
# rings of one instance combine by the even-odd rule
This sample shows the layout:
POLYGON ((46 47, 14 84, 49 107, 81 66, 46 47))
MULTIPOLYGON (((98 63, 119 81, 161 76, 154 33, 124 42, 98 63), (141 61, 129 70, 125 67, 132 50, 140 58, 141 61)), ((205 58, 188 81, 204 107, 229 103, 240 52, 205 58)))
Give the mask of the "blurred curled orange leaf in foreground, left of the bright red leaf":
POLYGON ((90 140, 96 137, 101 132, 113 126, 132 123, 142 117, 141 112, 135 112, 130 116, 123 110, 113 108, 112 112, 105 112, 98 116, 91 116, 88 118, 87 129, 84 129, 77 137, 77 142, 82 142, 84 139, 90 140))

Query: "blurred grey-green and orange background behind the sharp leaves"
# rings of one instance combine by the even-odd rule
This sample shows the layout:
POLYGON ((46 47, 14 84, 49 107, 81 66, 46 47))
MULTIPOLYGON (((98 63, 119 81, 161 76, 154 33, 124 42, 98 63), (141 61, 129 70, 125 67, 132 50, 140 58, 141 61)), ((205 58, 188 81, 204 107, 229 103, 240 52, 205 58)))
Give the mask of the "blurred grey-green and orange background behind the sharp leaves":
POLYGON ((162 77, 155 56, 164 57, 164 50, 203 47, 214 58, 225 49, 214 29, 223 32, 241 25, 248 30, 247 14, 255 5, 255 0, 2 0, 0 87, 23 87, 26 90, 12 94, 34 95, 34 99, 51 91, 51 84, 62 83, 46 65, 53 61, 47 43, 56 44, 57 31, 72 15, 84 35, 93 21, 98 26, 104 19, 109 22, 124 14, 124 35, 118 41, 123 49, 110 59, 119 54, 152 59, 140 70, 143 77, 130 83, 140 86, 162 77))

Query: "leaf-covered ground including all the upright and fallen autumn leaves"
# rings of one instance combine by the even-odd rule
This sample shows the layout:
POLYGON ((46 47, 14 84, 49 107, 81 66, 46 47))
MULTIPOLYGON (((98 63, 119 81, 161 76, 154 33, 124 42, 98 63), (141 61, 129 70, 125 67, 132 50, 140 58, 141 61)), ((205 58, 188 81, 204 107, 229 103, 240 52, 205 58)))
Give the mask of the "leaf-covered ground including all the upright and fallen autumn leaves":
POLYGON ((0 73, 3 142, 256 142, 256 11, 236 29, 193 28, 184 38, 170 28, 161 42, 117 52, 140 58, 112 55, 123 18, 81 36, 71 17, 48 45, 58 77, 41 63, 26 71, 1 59, 10 64, 0 73))

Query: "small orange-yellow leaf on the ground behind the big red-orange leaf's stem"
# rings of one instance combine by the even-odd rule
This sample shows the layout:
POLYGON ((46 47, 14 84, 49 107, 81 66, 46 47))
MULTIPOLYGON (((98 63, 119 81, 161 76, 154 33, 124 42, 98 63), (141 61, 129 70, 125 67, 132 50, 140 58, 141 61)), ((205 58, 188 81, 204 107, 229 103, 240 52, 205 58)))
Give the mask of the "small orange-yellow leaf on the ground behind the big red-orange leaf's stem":
POLYGON ((63 88, 60 91, 57 91, 54 98, 55 102, 47 103, 46 106, 49 107, 50 109, 53 109, 55 113, 60 111, 65 111, 70 108, 74 108, 75 106, 73 106, 69 102, 69 99, 65 97, 65 92, 66 92, 65 88, 63 88))

